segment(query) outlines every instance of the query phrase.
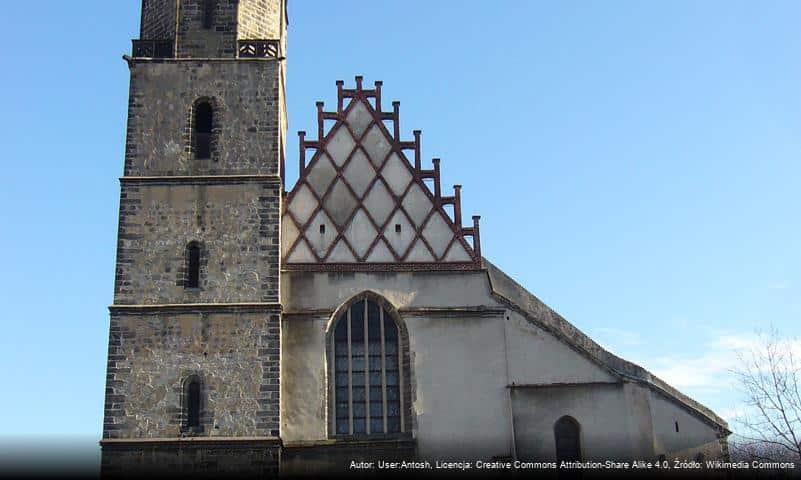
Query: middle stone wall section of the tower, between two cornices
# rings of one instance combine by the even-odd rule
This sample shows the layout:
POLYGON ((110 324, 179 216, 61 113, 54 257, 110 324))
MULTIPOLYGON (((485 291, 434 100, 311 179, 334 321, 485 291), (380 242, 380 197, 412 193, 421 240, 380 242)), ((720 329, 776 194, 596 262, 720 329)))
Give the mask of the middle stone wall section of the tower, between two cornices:
POLYGON ((123 183, 115 305, 278 301, 280 184, 123 183), (201 245, 199 288, 185 249, 201 245))

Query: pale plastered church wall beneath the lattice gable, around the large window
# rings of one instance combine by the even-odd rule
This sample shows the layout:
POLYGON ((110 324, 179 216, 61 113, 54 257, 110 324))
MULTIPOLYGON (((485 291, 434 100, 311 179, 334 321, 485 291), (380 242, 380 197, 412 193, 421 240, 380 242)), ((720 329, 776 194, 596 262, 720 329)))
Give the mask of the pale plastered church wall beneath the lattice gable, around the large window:
POLYGON ((716 440, 710 425, 674 400, 623 382, 501 305, 480 272, 285 273, 282 282, 285 443, 328 438, 326 328, 334 309, 367 290, 398 309, 407 327, 423 457, 511 456, 514 442, 521 458, 552 458, 553 425, 563 415, 581 424, 588 459, 653 459, 716 440), (437 312, 449 307, 491 313, 437 312))

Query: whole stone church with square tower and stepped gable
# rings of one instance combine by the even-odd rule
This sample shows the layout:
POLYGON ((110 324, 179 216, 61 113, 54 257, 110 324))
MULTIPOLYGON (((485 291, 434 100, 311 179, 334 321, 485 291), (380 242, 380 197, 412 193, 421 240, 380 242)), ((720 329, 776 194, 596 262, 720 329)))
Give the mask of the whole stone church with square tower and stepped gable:
POLYGON ((381 82, 310 104, 287 184, 286 9, 142 1, 104 473, 726 457, 724 420, 484 257, 381 82))

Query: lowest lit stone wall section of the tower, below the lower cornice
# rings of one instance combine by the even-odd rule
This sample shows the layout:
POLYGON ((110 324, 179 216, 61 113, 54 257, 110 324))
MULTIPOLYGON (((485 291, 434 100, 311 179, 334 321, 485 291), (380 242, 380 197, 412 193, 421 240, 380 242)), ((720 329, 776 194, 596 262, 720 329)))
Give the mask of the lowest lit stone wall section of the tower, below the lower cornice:
POLYGON ((183 386, 202 380, 200 436, 278 436, 279 307, 111 317, 103 438, 184 433, 183 386))

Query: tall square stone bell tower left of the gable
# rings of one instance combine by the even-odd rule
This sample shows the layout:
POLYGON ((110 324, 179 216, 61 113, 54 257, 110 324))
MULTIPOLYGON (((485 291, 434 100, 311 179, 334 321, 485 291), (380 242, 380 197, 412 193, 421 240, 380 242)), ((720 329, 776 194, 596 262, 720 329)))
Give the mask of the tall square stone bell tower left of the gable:
POLYGON ((143 0, 104 474, 277 469, 285 0, 143 0))

